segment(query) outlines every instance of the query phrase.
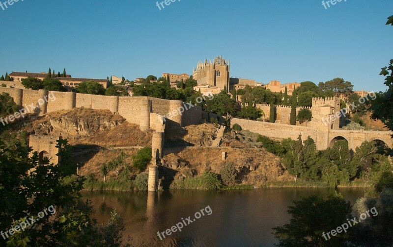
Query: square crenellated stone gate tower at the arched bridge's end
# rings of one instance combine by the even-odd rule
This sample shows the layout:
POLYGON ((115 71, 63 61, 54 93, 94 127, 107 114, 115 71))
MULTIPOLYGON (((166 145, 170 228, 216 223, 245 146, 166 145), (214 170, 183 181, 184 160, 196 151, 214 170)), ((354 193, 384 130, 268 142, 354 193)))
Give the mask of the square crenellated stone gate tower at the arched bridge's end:
POLYGON ((309 126, 323 131, 339 129, 340 99, 337 97, 312 98, 312 120, 309 126))

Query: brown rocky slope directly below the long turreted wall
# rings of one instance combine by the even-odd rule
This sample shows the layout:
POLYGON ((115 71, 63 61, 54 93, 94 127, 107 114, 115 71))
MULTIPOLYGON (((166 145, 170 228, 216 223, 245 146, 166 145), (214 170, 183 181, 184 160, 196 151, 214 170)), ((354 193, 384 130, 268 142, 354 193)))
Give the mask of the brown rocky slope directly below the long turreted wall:
POLYGON ((150 146, 151 133, 140 131, 108 110, 74 108, 37 117, 23 127, 29 134, 61 135, 71 145, 100 147, 150 146))

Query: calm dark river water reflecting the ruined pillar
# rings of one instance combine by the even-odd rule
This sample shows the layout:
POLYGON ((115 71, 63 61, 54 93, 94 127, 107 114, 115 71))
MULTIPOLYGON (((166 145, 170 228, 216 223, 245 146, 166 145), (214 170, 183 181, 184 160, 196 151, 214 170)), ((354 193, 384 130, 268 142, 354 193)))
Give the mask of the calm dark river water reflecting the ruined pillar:
MULTIPOLYGON (((364 195, 363 188, 338 191, 352 204, 364 195)), ((116 209, 124 220, 125 235, 132 237, 132 246, 273 247, 277 241, 272 227, 289 222, 286 210, 293 205, 292 200, 311 195, 326 198, 332 193, 334 190, 330 189, 263 188, 218 192, 95 192, 84 193, 83 198, 92 200, 98 222, 107 222, 112 209, 116 209), (188 217, 191 222, 186 220, 188 217), (168 231, 170 235, 164 233, 165 238, 161 234, 161 240, 157 232, 164 232, 178 222, 185 225, 181 231, 168 231)))

